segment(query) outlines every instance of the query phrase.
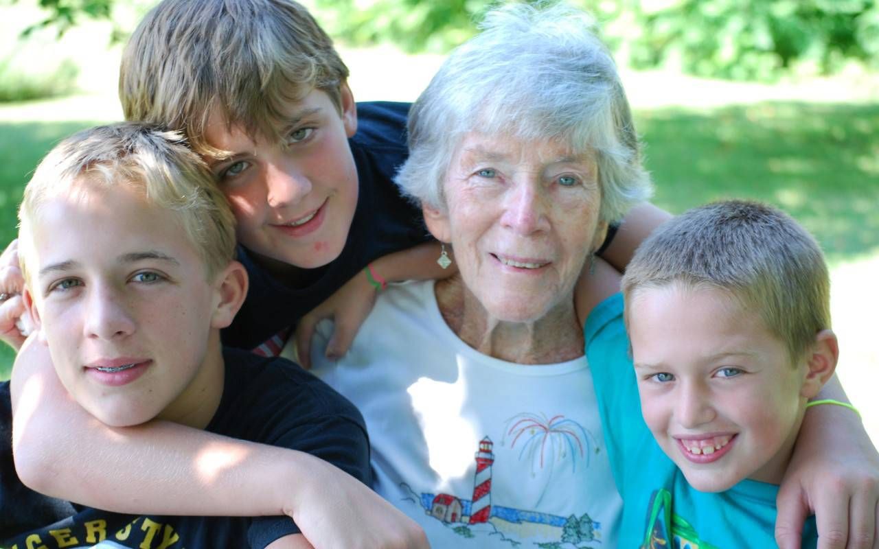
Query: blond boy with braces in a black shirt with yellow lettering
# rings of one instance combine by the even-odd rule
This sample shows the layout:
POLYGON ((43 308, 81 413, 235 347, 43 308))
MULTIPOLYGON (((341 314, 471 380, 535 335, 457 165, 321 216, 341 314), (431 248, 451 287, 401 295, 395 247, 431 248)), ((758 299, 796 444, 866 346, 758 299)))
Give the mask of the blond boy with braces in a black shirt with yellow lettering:
MULTIPOLYGON (((285 359, 223 349, 220 330, 241 306, 247 275, 233 259, 229 206, 179 134, 121 124, 62 141, 25 188, 19 217, 25 304, 58 378, 98 421, 130 427, 167 420, 307 451, 370 481, 366 430, 350 402, 285 359)), ((139 459, 145 458, 131 456, 139 459)), ((206 474, 216 466, 212 459, 235 457, 205 456, 206 474)), ((126 470, 120 463, 107 475, 121 480, 126 470)), ((276 514, 282 512, 279 505, 276 514)), ((3 546, 99 542, 311 546, 289 516, 132 516, 100 509, 79 509, 3 546)))

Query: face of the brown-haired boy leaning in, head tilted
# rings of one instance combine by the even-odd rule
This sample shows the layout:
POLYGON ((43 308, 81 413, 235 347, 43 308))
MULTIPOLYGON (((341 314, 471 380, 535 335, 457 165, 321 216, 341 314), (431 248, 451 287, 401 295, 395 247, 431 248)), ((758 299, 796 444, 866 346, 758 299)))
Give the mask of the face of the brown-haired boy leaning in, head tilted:
POLYGON ((207 142, 230 153, 211 169, 235 213, 238 242, 258 256, 313 269, 342 253, 358 197, 347 141, 357 116, 351 91, 342 92, 341 116, 321 90, 291 102, 282 143, 229 129, 219 110, 208 119, 207 142))

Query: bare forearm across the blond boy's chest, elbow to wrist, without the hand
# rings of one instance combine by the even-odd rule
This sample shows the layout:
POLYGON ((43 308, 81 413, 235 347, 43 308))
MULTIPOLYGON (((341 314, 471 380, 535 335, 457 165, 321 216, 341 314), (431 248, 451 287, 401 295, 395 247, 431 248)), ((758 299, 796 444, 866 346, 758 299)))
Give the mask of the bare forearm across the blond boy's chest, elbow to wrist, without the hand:
POLYGON ((295 502, 281 487, 317 461, 175 423, 108 427, 69 397, 47 361, 44 346, 25 343, 11 387, 18 474, 47 495, 129 513, 282 515, 295 502))

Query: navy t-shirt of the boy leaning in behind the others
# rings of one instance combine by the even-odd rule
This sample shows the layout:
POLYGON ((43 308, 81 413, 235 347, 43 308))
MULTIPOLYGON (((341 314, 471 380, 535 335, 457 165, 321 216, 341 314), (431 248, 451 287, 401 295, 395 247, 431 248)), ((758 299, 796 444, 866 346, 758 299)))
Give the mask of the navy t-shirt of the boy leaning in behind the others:
POLYGON ((432 236, 420 208, 404 199, 394 183, 409 155, 406 147, 408 103, 357 104, 357 134, 348 140, 357 166, 360 197, 342 253, 323 267, 316 282, 290 288, 238 247, 238 261, 250 276, 247 300, 235 321, 222 332, 223 343, 254 349, 281 330, 293 328, 311 309, 329 298, 368 263, 409 249, 432 236))

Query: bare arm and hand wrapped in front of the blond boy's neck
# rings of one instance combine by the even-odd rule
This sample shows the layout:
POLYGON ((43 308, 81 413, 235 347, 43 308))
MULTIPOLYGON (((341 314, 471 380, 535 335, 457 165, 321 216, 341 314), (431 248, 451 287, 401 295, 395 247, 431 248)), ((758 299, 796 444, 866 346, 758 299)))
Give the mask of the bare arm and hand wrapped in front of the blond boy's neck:
POLYGON ((176 423, 99 423, 69 397, 33 337, 18 354, 11 390, 18 475, 44 494, 135 514, 287 515, 318 549, 427 546, 389 503, 308 453, 176 423))

